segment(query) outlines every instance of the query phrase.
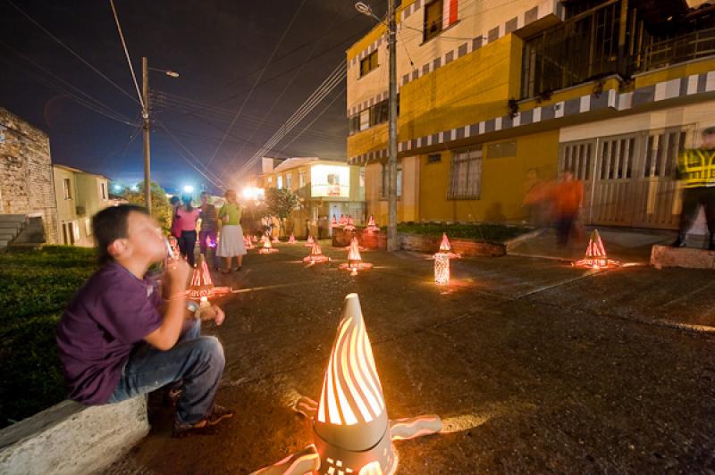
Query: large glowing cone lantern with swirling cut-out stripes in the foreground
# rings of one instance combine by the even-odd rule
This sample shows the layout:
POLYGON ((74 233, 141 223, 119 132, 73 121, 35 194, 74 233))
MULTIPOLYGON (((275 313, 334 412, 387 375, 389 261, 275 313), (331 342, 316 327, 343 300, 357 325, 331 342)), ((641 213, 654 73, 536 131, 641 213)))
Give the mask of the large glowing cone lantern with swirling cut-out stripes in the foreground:
POLYGON ((345 297, 319 402, 300 397, 314 444, 256 474, 383 475, 397 471, 392 441, 442 430, 437 415, 390 421, 357 294, 345 297))

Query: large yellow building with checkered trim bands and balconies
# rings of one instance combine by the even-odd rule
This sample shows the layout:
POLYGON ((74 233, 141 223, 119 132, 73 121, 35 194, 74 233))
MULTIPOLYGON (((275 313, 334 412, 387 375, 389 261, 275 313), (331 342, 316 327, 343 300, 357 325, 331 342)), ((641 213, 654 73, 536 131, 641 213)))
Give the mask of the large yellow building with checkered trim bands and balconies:
MULTIPOLYGON (((589 224, 677 228, 677 152, 715 124, 713 21, 685 0, 408 0, 398 10, 400 221, 522 221, 569 169, 589 224)), ((388 55, 351 46, 349 163, 387 218, 388 55)))

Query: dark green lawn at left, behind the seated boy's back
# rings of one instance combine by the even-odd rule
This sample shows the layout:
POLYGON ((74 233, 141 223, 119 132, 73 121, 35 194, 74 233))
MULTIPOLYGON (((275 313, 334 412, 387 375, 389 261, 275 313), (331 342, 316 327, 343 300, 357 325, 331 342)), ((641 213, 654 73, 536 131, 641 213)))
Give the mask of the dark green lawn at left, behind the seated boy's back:
POLYGON ((0 254, 0 428, 66 397, 55 329, 67 301, 96 269, 87 248, 0 254))

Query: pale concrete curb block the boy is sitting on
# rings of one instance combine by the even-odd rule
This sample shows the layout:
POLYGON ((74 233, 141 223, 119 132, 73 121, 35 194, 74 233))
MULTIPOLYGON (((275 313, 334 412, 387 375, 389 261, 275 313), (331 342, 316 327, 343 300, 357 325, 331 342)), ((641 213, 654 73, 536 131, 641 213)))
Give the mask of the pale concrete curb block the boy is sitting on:
POLYGON ((0 430, 0 473, 99 471, 148 431, 146 396, 93 406, 63 401, 0 430))

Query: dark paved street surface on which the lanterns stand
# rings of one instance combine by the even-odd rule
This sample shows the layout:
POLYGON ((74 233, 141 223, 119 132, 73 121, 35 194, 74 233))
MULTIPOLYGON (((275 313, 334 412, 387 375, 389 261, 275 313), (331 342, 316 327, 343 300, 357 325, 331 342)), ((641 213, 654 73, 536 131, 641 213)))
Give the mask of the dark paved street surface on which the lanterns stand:
MULTIPOLYGON (((607 237, 605 245, 609 248, 607 237)), ((317 398, 343 297, 360 296, 391 418, 437 413, 450 433, 396 443, 398 473, 715 470, 715 279, 648 267, 584 271, 522 256, 453 261, 363 253, 374 269, 306 267, 308 248, 249 254, 223 302, 227 366, 211 437, 170 437, 172 413, 107 474, 248 473, 311 442, 289 408, 317 398)))

